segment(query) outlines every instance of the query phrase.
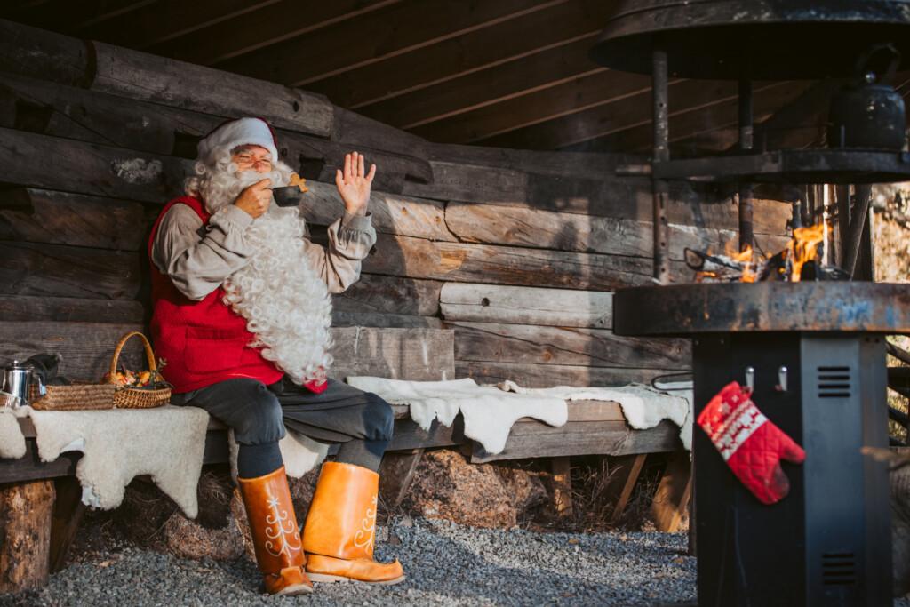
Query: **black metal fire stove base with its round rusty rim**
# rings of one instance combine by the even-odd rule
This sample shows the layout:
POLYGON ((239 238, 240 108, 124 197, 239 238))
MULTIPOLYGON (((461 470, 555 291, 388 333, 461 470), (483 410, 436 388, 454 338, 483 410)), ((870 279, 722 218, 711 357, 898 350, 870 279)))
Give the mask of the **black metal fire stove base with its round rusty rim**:
POLYGON ((616 332, 693 338, 696 415, 724 385, 753 386, 806 451, 765 506, 696 429, 700 605, 890 605, 885 333, 910 331, 910 288, 764 282, 632 288, 616 332))

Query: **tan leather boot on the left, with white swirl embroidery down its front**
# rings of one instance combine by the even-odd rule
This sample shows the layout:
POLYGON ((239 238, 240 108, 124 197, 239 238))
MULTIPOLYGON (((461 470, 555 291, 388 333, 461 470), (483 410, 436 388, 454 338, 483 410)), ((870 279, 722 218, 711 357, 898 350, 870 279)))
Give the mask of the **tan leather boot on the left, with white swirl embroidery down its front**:
POLYGON ((238 479, 238 485, 266 592, 284 595, 313 592, 313 584, 303 569, 307 557, 284 466, 256 479, 238 479))

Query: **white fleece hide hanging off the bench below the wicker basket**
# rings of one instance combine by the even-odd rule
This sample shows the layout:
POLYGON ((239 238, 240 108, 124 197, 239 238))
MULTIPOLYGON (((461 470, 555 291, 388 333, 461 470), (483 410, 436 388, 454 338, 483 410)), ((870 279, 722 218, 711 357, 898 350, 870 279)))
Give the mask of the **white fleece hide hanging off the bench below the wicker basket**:
POLYGON ((31 411, 38 455, 56 460, 81 450, 76 478, 82 501, 103 510, 123 501, 126 485, 148 474, 188 518, 196 518, 197 483, 208 414, 195 407, 31 411))

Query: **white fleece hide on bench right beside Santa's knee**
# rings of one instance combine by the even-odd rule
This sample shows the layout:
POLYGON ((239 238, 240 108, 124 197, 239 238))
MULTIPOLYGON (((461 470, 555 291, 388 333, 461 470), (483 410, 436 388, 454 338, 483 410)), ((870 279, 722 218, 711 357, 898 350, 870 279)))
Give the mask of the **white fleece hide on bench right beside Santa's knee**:
POLYGON ((473 379, 405 381, 349 377, 347 381, 392 404, 409 405, 411 419, 423 430, 430 430, 433 420, 451 426, 460 412, 464 417, 464 435, 477 440, 484 450, 493 454, 505 449, 512 425, 521 418, 541 420, 551 426, 561 426, 569 420, 565 399, 479 386, 473 379))

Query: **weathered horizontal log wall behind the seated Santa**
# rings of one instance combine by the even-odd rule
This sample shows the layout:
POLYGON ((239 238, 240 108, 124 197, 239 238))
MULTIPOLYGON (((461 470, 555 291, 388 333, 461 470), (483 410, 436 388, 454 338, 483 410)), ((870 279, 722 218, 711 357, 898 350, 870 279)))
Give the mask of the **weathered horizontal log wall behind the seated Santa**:
MULTIPOLYGON (((280 155, 309 179, 314 226, 342 211, 331 182, 345 152, 379 166, 379 241, 335 299, 337 325, 454 329, 456 373, 483 381, 611 384, 688 366, 682 341, 612 333, 612 291, 651 282, 649 182, 612 177, 633 158, 430 144, 322 96, 4 21, 0 340, 22 343, 26 320, 146 322, 150 222, 198 138, 245 115, 277 127, 280 155)), ((709 198, 673 193, 677 280, 683 246, 735 238, 736 207, 709 198)), ((763 248, 781 247, 788 218, 756 201, 763 248)))

